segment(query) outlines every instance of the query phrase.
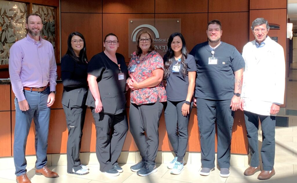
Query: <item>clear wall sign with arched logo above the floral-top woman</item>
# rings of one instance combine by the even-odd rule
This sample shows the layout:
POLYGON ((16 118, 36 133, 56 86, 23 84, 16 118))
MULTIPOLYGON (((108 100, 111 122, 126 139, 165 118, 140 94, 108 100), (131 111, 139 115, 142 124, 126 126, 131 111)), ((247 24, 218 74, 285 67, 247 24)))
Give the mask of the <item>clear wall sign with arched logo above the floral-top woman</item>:
POLYGON ((169 36, 174 32, 181 32, 180 18, 151 18, 129 19, 129 58, 137 47, 137 38, 142 31, 148 31, 155 42, 155 49, 161 56, 168 50, 169 36))

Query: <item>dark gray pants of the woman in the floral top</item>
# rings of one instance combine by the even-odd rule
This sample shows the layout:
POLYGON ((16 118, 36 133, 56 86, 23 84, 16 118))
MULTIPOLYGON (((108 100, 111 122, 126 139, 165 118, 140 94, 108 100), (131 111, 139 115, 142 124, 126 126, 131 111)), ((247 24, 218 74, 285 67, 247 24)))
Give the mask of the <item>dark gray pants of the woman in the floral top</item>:
POLYGON ((163 103, 159 99, 155 103, 136 105, 130 103, 129 128, 142 157, 151 165, 155 165, 159 146, 159 120, 163 111, 163 103))

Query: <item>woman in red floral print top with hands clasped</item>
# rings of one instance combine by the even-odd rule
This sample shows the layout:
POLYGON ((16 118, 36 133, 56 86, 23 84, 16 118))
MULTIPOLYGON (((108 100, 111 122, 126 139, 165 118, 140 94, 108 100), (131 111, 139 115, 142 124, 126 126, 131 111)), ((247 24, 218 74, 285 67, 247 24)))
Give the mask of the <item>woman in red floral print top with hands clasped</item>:
POLYGON ((166 102, 163 86, 163 59, 154 49, 154 40, 147 31, 137 39, 137 51, 128 65, 130 94, 129 126, 142 160, 131 166, 140 176, 157 171, 155 159, 159 145, 159 119, 166 102))

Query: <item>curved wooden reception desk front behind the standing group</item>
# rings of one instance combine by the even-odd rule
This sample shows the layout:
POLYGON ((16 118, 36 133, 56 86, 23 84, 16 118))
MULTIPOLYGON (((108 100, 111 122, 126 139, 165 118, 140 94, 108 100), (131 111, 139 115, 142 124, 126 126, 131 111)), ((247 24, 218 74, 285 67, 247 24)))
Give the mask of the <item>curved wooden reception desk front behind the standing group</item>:
MULTIPOLYGON (((59 81, 56 86, 56 91, 56 101, 51 107, 50 114, 48 154, 66 153, 67 146, 68 131, 64 110, 61 104, 63 85, 59 81)), ((12 92, 9 80, 0 81, 0 93, 0 157, 10 157, 13 156, 13 137, 15 135, 15 95, 12 92)), ((127 101, 129 101, 129 94, 127 95, 127 99, 127 101)), ((127 113, 129 119, 129 102, 127 102, 127 113)), ((217 145, 217 136, 215 142, 217 145)), ((80 152, 95 152, 95 144, 96 128, 94 119, 91 110, 87 109, 80 152)), ((159 125, 159 151, 172 150, 173 149, 168 140, 163 114, 159 125)), ((137 151, 137 146, 129 131, 122 151, 137 151)), ((192 109, 189 122, 189 143, 187 151, 200 152, 200 137, 196 108, 192 109)), ((248 154, 247 132, 242 111, 235 112, 232 130, 231 153, 248 154)), ((26 155, 34 154, 34 122, 32 122, 27 139, 26 155)))

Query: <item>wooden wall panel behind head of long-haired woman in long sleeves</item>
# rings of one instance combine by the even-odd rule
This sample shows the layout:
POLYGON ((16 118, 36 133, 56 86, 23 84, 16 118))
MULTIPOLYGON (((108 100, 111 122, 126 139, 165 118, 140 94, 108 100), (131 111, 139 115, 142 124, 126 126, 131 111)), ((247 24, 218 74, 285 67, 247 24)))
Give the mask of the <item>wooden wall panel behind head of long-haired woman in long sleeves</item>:
POLYGON ((61 56, 65 55, 68 36, 74 31, 85 37, 89 60, 102 51, 102 14, 61 13, 61 56))

